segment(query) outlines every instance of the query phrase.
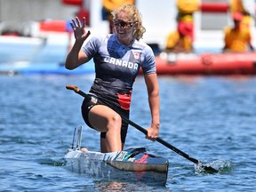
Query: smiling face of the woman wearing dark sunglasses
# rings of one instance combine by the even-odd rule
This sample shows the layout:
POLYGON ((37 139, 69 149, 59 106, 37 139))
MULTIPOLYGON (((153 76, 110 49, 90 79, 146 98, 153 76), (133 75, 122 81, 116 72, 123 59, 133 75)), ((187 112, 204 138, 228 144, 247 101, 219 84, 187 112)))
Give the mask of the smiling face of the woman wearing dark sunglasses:
POLYGON ((125 12, 120 12, 116 15, 114 27, 116 28, 116 35, 121 43, 127 44, 133 39, 133 33, 137 24, 132 22, 125 12))

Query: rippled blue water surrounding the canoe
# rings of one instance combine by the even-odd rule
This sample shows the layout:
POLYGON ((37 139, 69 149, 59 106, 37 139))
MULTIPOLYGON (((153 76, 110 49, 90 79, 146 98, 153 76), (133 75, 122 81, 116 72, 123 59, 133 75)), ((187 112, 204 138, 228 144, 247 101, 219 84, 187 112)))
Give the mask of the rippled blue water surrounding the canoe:
MULTIPOLYGON (((195 172, 194 164, 130 127, 125 148, 146 147, 170 160, 165 187, 97 180, 65 168, 74 127, 82 145, 99 150, 99 133, 80 114, 81 96, 93 76, 0 76, 1 191, 254 191, 256 188, 256 78, 160 76, 162 139, 220 168, 195 172)), ((150 124, 146 87, 134 85, 131 120, 150 124)))

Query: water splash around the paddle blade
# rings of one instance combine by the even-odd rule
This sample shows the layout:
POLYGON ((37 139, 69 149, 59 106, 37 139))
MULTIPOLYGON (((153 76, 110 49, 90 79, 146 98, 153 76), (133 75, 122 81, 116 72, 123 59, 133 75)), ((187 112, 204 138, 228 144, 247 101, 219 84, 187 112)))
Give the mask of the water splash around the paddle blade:
POLYGON ((229 173, 233 171, 233 164, 228 160, 216 160, 212 163, 207 164, 196 164, 195 165, 195 172, 196 173, 229 173), (209 170, 205 169, 205 167, 212 167, 214 170, 217 170, 218 172, 209 172, 209 170))

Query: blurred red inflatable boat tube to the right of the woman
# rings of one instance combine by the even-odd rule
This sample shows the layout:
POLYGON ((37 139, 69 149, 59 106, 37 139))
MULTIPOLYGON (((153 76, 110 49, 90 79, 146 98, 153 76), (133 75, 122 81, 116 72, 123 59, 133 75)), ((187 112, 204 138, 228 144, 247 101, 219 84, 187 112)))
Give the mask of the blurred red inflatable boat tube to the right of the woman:
MULTIPOLYGON (((256 75, 256 52, 172 54, 156 57, 158 75, 256 75)), ((140 71, 141 73, 141 71, 140 71)))

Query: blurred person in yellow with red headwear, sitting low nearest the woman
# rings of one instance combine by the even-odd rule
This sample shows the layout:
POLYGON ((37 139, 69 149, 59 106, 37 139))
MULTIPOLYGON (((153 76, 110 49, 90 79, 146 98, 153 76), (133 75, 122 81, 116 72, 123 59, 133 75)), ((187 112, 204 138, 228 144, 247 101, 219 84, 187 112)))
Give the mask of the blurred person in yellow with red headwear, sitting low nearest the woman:
POLYGON ((180 53, 180 52, 192 52, 192 39, 188 35, 186 28, 179 28, 176 31, 171 32, 167 36, 166 52, 180 53))

